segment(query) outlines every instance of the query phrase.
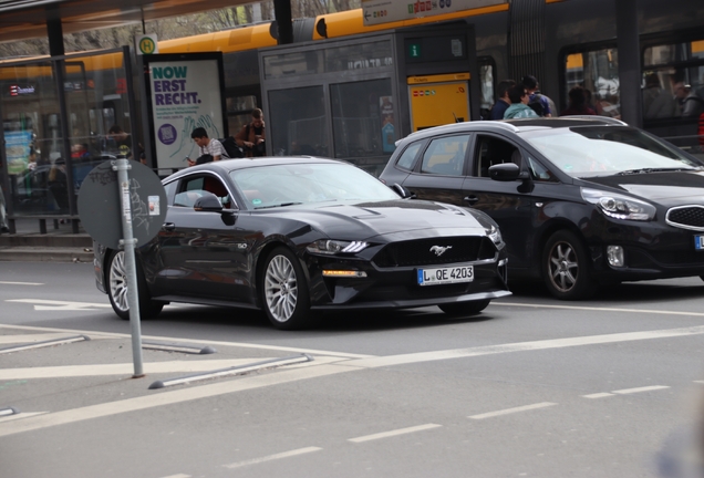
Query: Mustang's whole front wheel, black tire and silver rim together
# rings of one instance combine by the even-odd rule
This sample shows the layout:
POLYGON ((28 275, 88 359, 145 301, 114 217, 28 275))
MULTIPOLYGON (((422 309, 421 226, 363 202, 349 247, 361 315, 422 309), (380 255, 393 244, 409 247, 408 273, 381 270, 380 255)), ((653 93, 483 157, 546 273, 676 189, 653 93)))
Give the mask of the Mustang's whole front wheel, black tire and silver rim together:
POLYGON ((308 282, 290 249, 278 247, 267 257, 259 291, 265 313, 276 329, 297 330, 311 323, 308 282))

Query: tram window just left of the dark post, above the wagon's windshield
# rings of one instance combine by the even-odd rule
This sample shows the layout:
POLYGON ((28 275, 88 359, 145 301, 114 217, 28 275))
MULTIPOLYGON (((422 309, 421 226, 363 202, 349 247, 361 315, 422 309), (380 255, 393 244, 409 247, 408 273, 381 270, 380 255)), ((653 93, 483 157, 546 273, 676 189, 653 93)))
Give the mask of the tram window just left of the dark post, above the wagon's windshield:
MULTIPOLYGON (((565 93, 577 85, 591 94, 591 106, 601 116, 621 117, 619 52, 599 49, 572 53, 565 58, 565 93)), ((567 96, 565 97, 567 104, 567 96)))

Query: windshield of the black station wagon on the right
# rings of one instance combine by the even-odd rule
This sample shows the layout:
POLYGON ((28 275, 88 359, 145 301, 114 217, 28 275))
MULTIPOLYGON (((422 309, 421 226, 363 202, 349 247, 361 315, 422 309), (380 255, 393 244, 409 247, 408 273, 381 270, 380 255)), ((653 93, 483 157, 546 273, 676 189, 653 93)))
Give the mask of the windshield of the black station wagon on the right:
POLYGON ((573 177, 646 170, 701 169, 675 147, 630 127, 574 126, 524 136, 553 165, 573 177))

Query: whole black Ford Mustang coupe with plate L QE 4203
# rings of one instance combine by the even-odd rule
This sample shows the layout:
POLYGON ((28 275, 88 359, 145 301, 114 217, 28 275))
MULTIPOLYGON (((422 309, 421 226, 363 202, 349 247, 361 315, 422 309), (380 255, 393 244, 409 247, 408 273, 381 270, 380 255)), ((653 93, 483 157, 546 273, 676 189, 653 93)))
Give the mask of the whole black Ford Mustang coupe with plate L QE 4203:
MULTIPOLYGON (((163 184, 165 224, 137 249, 143 318, 189 302, 263 309, 276 328, 297 329, 323 310, 470 314, 510 294, 493 219, 402 199, 346 163, 231 159, 163 184)), ((95 266, 97 288, 127 319, 124 253, 96 245, 95 266)))

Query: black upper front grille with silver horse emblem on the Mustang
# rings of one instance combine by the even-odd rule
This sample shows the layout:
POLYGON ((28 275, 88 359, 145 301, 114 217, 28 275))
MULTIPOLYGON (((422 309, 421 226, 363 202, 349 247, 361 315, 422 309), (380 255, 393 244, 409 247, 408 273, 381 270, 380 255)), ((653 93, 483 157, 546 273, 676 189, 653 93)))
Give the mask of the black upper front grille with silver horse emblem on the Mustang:
POLYGON ((390 243, 374 256, 373 262, 380 268, 433 266, 493 259, 495 253, 489 238, 460 236, 390 243))

